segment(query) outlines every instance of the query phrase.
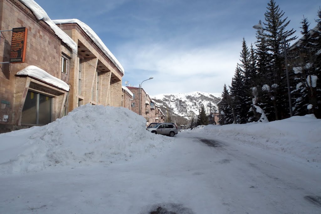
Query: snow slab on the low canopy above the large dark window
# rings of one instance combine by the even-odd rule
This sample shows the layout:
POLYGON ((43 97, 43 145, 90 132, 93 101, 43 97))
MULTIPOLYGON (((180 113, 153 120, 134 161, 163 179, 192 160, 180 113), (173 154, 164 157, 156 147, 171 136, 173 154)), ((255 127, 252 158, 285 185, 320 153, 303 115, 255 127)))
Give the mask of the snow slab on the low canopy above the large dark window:
POLYGON ((29 76, 56 86, 65 91, 69 91, 69 85, 64 81, 50 75, 46 71, 34 65, 29 65, 17 73, 18 76, 29 76))

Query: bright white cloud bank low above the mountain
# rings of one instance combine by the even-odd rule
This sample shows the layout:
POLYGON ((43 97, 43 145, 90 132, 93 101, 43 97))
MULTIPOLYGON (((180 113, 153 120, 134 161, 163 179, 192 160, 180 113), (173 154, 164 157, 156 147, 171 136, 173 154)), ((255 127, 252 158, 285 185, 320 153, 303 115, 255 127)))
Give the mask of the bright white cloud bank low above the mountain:
POLYGON ((143 85, 151 95, 160 94, 160 87, 163 91, 161 93, 196 90, 221 93, 224 83, 230 84, 239 62, 241 39, 238 42, 197 48, 174 43, 140 45, 133 42, 120 47, 120 61, 130 73, 129 76, 137 79, 134 85, 138 86, 139 81, 144 80, 142 73, 148 73, 146 79, 154 77, 154 80, 146 81, 143 85))

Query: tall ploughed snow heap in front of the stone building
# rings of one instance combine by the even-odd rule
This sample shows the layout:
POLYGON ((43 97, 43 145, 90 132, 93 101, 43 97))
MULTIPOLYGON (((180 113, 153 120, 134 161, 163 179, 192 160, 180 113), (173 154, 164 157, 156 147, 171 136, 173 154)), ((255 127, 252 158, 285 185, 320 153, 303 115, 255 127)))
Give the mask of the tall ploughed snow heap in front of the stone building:
POLYGON ((146 131, 145 124, 144 117, 123 107, 78 107, 45 126, 0 134, 0 174, 109 165, 155 156, 174 141, 146 131))

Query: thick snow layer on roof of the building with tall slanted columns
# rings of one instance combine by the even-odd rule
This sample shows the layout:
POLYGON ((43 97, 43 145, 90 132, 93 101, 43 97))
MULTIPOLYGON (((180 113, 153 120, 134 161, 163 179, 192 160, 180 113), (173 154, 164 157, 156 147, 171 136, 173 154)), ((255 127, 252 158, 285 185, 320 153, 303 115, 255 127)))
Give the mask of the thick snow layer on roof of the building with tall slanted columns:
POLYGON ((99 36, 85 23, 78 19, 59 19, 53 20, 56 24, 67 24, 67 23, 77 23, 83 31, 92 39, 92 41, 100 48, 100 50, 108 57, 108 59, 118 68, 118 70, 125 74, 123 66, 118 62, 116 57, 110 52, 110 50, 106 47, 103 41, 99 38, 99 36))

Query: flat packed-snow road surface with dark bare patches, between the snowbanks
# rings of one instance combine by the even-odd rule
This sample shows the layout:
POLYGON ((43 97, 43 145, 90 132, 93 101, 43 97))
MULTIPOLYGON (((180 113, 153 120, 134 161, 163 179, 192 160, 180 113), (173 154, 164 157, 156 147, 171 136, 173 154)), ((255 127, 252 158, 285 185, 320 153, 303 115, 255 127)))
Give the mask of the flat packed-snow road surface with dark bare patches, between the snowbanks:
POLYGON ((156 157, 1 176, 0 213, 321 213, 318 163, 198 133, 174 138, 156 157))

